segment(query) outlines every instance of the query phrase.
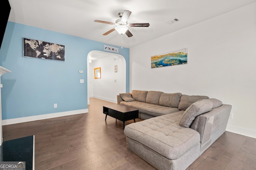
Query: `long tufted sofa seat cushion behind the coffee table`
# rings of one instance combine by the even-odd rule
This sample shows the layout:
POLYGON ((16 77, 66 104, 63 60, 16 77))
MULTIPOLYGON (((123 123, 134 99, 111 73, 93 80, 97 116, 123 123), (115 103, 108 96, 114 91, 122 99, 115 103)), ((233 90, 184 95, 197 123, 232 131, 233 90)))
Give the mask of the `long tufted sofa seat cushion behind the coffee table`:
POLYGON ((166 115, 166 114, 179 111, 179 109, 176 107, 166 107, 166 106, 160 106, 156 104, 150 104, 150 103, 138 102, 138 101, 132 101, 132 102, 122 101, 120 102, 120 105, 136 107, 139 109, 140 113, 145 113, 151 116, 166 115))

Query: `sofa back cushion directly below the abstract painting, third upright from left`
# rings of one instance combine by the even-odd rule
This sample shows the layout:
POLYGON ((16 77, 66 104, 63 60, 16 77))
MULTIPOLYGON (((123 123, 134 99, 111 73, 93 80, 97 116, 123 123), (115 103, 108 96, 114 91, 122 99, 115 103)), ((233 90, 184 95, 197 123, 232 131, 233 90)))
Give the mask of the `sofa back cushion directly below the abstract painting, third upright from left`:
POLYGON ((181 95, 181 93, 162 93, 159 105, 178 108, 181 95))

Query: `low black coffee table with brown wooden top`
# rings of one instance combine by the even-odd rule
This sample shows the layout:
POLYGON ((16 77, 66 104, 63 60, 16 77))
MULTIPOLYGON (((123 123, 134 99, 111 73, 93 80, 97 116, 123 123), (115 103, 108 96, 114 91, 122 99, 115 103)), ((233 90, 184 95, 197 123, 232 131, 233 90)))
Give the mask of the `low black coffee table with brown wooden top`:
POLYGON ((122 106, 119 104, 103 106, 103 113, 106 114, 105 121, 108 115, 122 121, 123 129, 125 127, 125 121, 133 119, 135 122, 135 119, 139 117, 139 110, 137 108, 122 106))

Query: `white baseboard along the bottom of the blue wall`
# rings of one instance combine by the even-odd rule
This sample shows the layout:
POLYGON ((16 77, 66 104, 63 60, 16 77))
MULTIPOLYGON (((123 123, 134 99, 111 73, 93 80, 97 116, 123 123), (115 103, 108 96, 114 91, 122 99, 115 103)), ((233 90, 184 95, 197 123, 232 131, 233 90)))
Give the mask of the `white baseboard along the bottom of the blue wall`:
POLYGON ((54 118, 54 117, 62 117, 62 116, 68 116, 68 115, 76 115, 76 114, 81 114, 81 113, 88 113, 88 109, 64 111, 64 112, 50 113, 50 114, 45 114, 45 115, 37 115, 37 116, 29 116, 29 117, 20 117, 20 118, 15 118, 15 119, 5 119, 5 120, 2 120, 2 125, 11 125, 11 124, 16 124, 16 123, 50 119, 50 118, 54 118))

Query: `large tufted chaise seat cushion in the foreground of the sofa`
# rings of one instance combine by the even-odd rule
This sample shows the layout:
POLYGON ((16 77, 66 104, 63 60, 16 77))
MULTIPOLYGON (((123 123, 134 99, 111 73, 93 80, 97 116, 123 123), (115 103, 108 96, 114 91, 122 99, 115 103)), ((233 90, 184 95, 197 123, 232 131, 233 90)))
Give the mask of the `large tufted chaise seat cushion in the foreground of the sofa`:
POLYGON ((192 147, 200 144, 197 131, 179 125, 183 112, 131 123, 124 128, 124 135, 168 159, 180 158, 192 147))

